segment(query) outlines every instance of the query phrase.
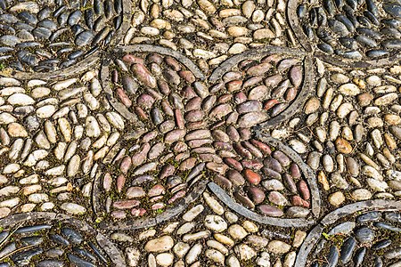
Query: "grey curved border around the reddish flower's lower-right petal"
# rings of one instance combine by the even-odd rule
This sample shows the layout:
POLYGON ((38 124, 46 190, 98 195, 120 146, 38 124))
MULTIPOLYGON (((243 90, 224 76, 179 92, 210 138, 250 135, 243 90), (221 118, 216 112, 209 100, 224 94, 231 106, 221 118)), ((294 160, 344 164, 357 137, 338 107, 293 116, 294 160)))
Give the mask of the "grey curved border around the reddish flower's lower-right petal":
MULTIPOLYGON (((302 158, 300 158, 299 155, 294 150, 292 150, 290 147, 284 145, 282 142, 274 139, 273 137, 259 134, 258 132, 257 132, 257 137, 259 140, 266 142, 267 144, 273 145, 275 148, 278 148, 279 150, 282 150, 295 163, 297 163, 297 165, 299 165, 299 168, 301 169, 302 173, 305 175, 305 179, 307 180, 307 183, 309 185, 309 189, 311 192, 312 214, 315 216, 315 218, 318 218, 319 214, 320 214, 321 200, 320 200, 319 190, 317 188, 317 183, 315 180, 315 174, 313 173, 313 171, 309 168, 309 166, 307 166, 303 162, 302 158)), ((225 203, 226 206, 229 206, 236 213, 241 214, 242 216, 245 216, 255 222, 274 225, 274 226, 280 226, 280 227, 294 227, 294 228, 307 227, 307 226, 315 224, 315 220, 286 219, 286 218, 282 219, 282 218, 274 218, 274 217, 254 213, 254 212, 250 211, 250 209, 236 203, 233 200, 233 198, 230 197, 225 192, 225 190, 223 190, 215 182, 209 182, 208 186, 209 186, 209 189, 212 190, 213 193, 216 195, 216 197, 219 198, 221 201, 223 201, 223 203, 225 203)), ((296 265, 296 266, 298 266, 298 265, 296 265)))

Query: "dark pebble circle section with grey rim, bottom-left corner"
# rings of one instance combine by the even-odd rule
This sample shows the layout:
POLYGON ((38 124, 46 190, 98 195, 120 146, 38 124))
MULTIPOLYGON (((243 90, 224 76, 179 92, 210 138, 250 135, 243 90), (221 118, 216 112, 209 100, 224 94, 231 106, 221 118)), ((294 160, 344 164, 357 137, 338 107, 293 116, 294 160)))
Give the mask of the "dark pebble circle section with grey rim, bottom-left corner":
POLYGON ((117 247, 63 214, 15 214, 0 221, 0 266, 125 266, 117 247))

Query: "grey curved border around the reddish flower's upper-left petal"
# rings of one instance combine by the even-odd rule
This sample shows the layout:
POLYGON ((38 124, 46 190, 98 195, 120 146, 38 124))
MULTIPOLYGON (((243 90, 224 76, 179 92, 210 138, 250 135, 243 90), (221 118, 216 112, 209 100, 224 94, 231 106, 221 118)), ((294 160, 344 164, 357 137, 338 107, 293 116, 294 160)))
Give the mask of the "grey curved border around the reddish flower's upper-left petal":
POLYGON ((136 125, 137 127, 143 127, 143 123, 139 121, 134 113, 129 111, 126 106, 121 104, 113 97, 113 92, 110 87, 110 64, 112 63, 112 59, 115 58, 114 53, 160 53, 164 55, 170 55, 174 57, 177 61, 184 64, 184 66, 190 69, 195 75, 195 77, 204 79, 203 73, 201 69, 198 68, 190 59, 184 56, 182 53, 178 53, 172 49, 157 46, 157 45, 150 45, 150 44, 135 44, 135 45, 127 45, 127 46, 119 46, 116 48, 111 55, 102 61, 101 67, 101 80, 102 80, 102 87, 108 100, 110 101, 111 106, 116 109, 119 114, 125 117, 130 123, 136 125))

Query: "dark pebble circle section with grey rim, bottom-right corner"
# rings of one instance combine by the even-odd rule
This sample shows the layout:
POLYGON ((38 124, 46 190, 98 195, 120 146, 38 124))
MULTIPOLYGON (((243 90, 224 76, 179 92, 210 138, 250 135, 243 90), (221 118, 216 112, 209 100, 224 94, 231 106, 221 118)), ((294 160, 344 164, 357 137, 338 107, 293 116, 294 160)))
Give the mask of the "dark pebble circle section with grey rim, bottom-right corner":
POLYGON ((344 215, 345 209, 333 212, 344 217, 326 227, 318 225, 310 232, 306 244, 313 244, 301 247, 297 266, 304 266, 301 258, 306 247, 310 252, 305 266, 400 266, 401 214, 399 204, 394 203, 398 210, 366 210, 348 215, 344 215))

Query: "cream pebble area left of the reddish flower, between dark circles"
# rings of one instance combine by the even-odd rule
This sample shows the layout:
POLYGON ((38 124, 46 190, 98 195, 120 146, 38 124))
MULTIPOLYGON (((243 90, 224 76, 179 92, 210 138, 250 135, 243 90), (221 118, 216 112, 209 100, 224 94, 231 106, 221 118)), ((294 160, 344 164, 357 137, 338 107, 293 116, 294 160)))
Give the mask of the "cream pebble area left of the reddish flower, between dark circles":
POLYGON ((124 129, 122 117, 98 97, 95 76, 55 83, 0 78, 1 217, 53 208, 86 213, 96 161, 115 156, 110 149, 124 129))

